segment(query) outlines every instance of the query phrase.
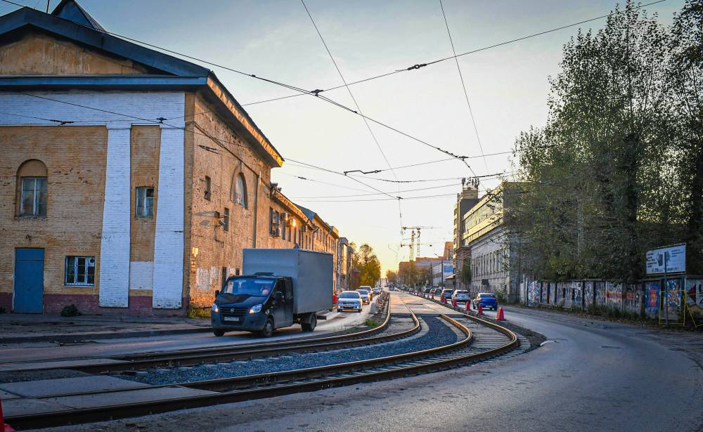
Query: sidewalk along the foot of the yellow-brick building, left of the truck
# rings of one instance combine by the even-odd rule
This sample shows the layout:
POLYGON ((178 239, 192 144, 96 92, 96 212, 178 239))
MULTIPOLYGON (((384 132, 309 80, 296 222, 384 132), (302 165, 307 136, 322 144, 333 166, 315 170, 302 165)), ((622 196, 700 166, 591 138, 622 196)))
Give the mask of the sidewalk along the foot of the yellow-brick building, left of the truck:
POLYGON ((105 315, 0 314, 0 344, 52 341, 73 343, 86 339, 161 336, 211 331, 209 320, 172 317, 105 315))

